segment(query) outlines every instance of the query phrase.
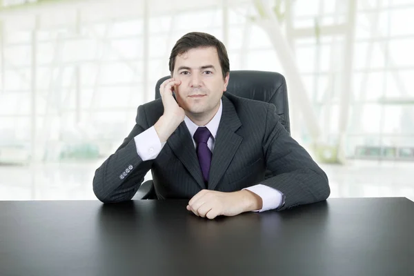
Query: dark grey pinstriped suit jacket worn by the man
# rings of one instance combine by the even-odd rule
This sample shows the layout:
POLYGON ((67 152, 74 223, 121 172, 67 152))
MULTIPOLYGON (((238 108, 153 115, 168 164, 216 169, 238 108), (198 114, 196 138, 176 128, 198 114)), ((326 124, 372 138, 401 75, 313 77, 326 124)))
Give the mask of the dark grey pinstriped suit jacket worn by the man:
POLYGON ((137 154, 133 138, 153 126, 164 112, 157 99, 139 106, 128 137, 96 170, 93 190, 97 198, 103 202, 132 199, 148 170, 158 199, 190 199, 205 188, 232 192, 259 183, 284 194, 285 203, 279 210, 328 198, 326 174, 286 132, 273 104, 228 92, 222 103, 208 186, 184 121, 156 159, 142 161, 137 154), (266 168, 272 177, 265 179, 266 168))

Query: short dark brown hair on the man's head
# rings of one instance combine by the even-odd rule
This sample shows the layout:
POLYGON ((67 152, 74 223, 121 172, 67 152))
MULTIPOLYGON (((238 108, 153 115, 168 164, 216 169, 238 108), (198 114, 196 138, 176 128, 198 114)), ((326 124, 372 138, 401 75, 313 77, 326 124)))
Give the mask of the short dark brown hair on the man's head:
POLYGON ((205 32, 188 32, 184 34, 172 47, 170 54, 170 72, 174 71, 175 57, 182 55, 188 50, 199 48, 199 47, 215 47, 217 54, 219 55, 219 61, 221 66, 221 73, 223 78, 226 77, 227 73, 230 72, 230 61, 228 61, 227 50, 224 44, 215 38, 211 34, 205 32))

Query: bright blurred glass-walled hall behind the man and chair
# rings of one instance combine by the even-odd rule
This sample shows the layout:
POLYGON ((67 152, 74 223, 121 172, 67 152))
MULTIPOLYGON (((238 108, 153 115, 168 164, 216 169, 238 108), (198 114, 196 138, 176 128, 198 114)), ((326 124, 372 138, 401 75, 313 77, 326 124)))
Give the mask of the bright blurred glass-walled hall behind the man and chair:
POLYGON ((414 200, 413 26, 414 0, 0 0, 0 200, 95 199, 192 31, 286 77, 331 197, 414 200))

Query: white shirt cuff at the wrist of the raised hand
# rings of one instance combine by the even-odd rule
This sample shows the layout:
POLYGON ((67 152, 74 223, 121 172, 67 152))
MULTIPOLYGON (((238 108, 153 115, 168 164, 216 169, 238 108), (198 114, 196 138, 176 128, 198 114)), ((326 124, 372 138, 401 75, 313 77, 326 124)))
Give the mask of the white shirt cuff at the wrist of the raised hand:
POLYGON ((159 152, 166 144, 159 141, 157 131, 154 126, 148 128, 144 132, 134 137, 135 147, 137 148, 137 154, 141 157, 142 161, 152 160, 157 158, 159 152))

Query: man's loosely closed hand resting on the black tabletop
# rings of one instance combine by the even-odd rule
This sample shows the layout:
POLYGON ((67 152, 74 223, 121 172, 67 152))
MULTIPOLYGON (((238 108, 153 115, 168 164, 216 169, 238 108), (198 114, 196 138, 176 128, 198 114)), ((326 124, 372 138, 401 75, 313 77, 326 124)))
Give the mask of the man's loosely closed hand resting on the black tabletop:
POLYGON ((262 208, 262 198, 249 190, 232 193, 201 190, 187 205, 187 210, 199 217, 214 219, 219 215, 235 216, 262 208))

